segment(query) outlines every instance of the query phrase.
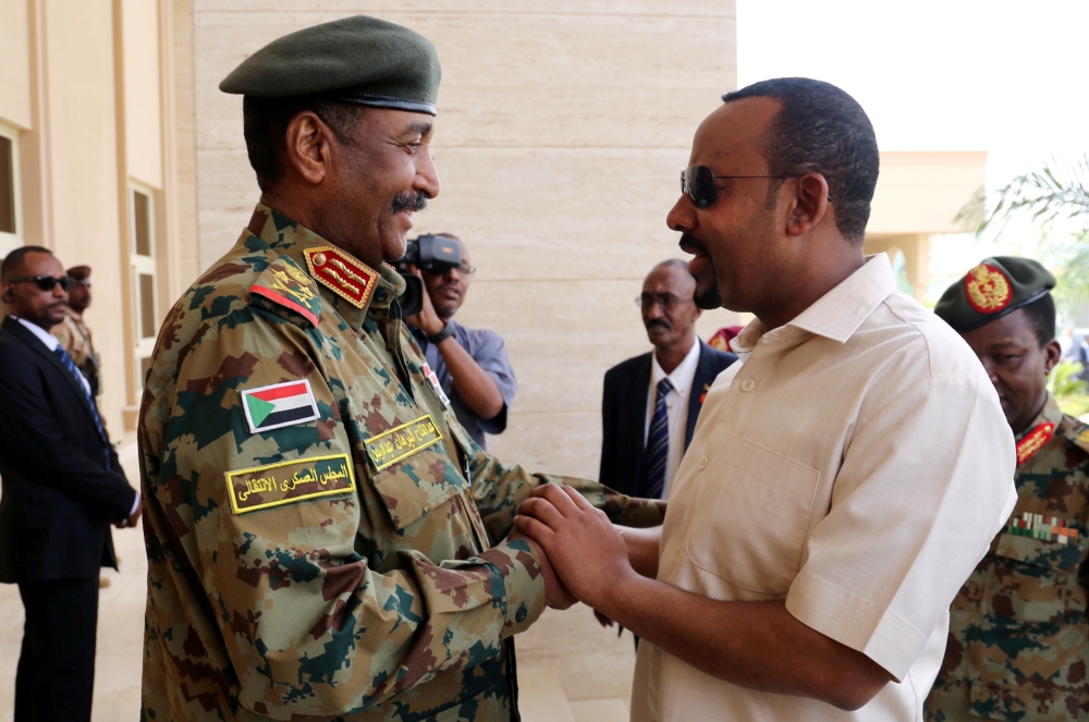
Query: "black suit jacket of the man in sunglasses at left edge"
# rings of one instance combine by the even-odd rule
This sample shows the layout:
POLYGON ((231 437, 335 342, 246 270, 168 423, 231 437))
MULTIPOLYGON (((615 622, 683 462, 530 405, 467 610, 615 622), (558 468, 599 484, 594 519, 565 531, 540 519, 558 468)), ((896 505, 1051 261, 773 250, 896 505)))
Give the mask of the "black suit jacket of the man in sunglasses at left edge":
POLYGON ((129 516, 136 491, 78 381, 11 317, 0 326, 0 582, 117 567, 110 521, 129 516))

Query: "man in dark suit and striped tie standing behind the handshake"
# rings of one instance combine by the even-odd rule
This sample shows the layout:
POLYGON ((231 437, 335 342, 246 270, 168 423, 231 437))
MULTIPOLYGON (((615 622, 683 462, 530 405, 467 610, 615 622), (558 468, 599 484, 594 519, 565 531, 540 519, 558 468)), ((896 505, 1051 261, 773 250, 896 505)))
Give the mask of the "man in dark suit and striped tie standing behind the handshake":
POLYGON ((737 360, 696 336, 695 290, 683 260, 656 266, 636 299, 654 350, 605 372, 598 480, 633 497, 669 497, 708 388, 737 360))

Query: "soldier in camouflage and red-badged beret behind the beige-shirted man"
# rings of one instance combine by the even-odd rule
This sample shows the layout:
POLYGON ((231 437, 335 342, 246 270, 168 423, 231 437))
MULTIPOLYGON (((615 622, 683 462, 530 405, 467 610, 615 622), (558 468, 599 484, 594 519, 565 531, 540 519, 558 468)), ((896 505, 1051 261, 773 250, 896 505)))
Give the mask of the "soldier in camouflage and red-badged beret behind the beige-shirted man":
POLYGON ((953 602, 932 722, 1089 719, 1089 426, 1045 388, 1061 355, 1054 285, 1035 260, 988 258, 935 308, 999 392, 1017 439, 1018 502, 953 602))

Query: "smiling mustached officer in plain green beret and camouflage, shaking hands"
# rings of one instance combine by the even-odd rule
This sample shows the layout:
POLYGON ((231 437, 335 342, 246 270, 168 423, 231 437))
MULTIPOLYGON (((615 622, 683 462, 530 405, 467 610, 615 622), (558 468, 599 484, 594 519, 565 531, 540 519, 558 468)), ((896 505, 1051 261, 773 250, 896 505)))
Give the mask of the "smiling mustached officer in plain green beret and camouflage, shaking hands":
POLYGON ((351 17, 221 85, 261 205, 146 382, 143 720, 516 720, 511 637, 571 598, 515 506, 566 482, 660 523, 480 450, 405 330, 383 259, 439 191, 438 82, 426 39, 351 17))

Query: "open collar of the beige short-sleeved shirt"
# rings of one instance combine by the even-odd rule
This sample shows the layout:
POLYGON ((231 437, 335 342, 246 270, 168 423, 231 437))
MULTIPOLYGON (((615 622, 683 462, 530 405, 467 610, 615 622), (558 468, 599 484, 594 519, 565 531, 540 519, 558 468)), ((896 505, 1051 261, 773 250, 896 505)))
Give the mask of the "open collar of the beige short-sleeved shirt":
MULTIPOLYGON (((896 280, 889 256, 883 253, 867 256, 860 268, 785 326, 846 343, 862 321, 895 290, 896 280)), ((747 356, 764 333, 763 323, 755 318, 730 342, 730 347, 738 355, 747 356)))

